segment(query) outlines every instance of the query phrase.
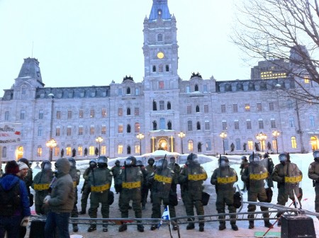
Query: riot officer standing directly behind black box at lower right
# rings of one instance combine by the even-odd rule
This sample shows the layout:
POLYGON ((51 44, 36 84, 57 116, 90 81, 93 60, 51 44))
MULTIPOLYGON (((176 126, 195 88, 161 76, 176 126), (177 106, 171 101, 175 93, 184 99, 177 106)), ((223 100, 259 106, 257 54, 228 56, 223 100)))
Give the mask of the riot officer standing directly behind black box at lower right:
MULTIPOLYGON (((272 172, 272 180, 277 182, 278 197, 277 204, 286 205, 288 198, 293 200, 296 207, 295 194, 301 202, 301 193, 299 183, 303 179, 303 173, 296 164, 291 163, 289 153, 283 152, 279 154, 279 164, 274 166, 272 172)), ((281 226, 281 215, 284 212, 278 212, 277 217, 280 217, 277 225, 281 226)))

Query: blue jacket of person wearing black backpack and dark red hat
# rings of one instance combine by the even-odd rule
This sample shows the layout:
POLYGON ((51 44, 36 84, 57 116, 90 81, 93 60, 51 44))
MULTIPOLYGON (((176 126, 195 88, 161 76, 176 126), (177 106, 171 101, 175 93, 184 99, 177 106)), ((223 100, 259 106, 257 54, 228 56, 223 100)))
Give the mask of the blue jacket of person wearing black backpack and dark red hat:
POLYGON ((26 183, 19 179, 18 176, 13 174, 4 174, 0 179, 0 184, 4 190, 9 191, 10 188, 16 185, 16 182, 20 184, 20 193, 21 193, 21 205, 20 210, 14 212, 15 215, 22 215, 23 217, 29 217, 31 215, 29 207, 29 198, 28 191, 26 189, 26 183))

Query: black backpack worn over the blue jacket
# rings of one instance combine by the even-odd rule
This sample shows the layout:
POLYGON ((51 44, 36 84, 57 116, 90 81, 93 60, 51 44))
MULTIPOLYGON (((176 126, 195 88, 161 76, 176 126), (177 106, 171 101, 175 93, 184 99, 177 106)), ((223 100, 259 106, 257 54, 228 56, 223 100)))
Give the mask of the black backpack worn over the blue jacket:
POLYGON ((14 212, 20 208, 20 204, 21 196, 19 181, 17 181, 9 191, 5 191, 0 184, 0 214, 12 216, 14 212))

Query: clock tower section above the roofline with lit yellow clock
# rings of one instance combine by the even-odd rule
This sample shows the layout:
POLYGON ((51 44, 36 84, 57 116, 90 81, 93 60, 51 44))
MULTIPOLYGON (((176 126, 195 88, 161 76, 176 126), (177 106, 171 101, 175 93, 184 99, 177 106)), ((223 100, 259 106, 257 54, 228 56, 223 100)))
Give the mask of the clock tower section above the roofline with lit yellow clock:
POLYGON ((167 0, 153 0, 150 16, 144 19, 143 33, 145 90, 177 89, 177 27, 167 0))

